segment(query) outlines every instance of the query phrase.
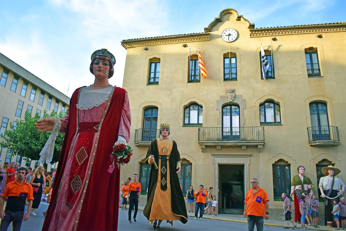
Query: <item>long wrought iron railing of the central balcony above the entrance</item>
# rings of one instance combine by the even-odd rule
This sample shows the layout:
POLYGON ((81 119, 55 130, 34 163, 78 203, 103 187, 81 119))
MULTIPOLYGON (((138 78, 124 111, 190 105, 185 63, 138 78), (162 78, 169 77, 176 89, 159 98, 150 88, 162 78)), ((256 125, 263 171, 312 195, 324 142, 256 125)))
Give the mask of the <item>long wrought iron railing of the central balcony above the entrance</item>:
POLYGON ((198 128, 198 141, 264 141, 264 127, 198 128))

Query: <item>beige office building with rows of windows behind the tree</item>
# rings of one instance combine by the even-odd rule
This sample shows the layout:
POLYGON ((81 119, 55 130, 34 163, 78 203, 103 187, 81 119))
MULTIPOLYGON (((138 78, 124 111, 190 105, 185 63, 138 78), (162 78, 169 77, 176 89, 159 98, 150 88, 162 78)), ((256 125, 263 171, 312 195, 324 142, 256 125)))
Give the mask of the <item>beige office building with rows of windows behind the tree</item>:
MULTIPOLYGON (((35 113, 41 115, 44 110, 47 110, 49 114, 53 110, 59 113, 69 108, 69 97, 1 53, 0 73, 1 133, 9 128, 10 122, 15 124, 17 119, 24 119, 26 110, 29 110, 32 115, 35 113)), ((18 162, 20 166, 33 169, 39 165, 42 166, 38 160, 25 160, 20 156, 11 157, 6 148, 1 149, 0 161, 1 165, 4 161, 18 162)), ((48 165, 47 170, 50 171, 54 167, 55 164, 48 165)))

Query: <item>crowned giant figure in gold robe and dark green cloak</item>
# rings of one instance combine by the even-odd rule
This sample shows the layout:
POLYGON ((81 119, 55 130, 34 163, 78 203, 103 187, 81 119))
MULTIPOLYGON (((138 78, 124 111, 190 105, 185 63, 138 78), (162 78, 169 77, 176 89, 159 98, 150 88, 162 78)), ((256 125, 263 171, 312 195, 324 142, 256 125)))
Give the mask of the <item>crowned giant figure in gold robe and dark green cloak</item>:
POLYGON ((147 204, 143 214, 154 221, 153 228, 161 230, 162 220, 173 225, 174 220, 188 222, 185 201, 178 173, 181 169, 180 154, 176 142, 168 138, 169 124, 160 124, 161 138, 154 139, 147 152, 146 163, 151 164, 148 182, 147 204))

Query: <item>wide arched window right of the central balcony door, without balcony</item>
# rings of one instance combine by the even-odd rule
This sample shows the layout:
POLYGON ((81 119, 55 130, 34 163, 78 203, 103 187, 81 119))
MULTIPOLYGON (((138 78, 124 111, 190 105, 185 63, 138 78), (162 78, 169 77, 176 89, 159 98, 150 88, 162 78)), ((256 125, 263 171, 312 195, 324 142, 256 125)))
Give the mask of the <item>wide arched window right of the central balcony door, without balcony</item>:
POLYGON ((280 105, 273 101, 267 101, 260 105, 261 123, 281 123, 280 105))

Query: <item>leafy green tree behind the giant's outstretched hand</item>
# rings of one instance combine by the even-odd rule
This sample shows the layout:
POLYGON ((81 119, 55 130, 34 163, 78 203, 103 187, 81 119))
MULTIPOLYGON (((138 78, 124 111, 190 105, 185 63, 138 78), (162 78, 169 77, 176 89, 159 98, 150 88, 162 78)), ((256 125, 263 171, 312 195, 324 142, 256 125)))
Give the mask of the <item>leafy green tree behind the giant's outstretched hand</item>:
MULTIPOLYGON (((66 114, 65 114, 66 115, 66 114)), ((43 117, 41 119, 56 116, 62 118, 65 116, 62 112, 57 114, 52 111, 51 114, 47 114, 44 110, 43 117)), ((1 142, 0 146, 2 148, 7 148, 10 156, 21 156, 29 158, 30 160, 38 160, 40 158, 40 152, 44 145, 46 144, 51 133, 49 132, 38 132, 35 128, 35 123, 39 120, 38 113, 31 116, 31 113, 27 110, 25 112, 24 120, 16 120, 15 124, 10 122, 10 129, 6 129, 3 134, 0 135, 1 142)), ((61 146, 63 143, 65 134, 58 132, 58 136, 55 140, 53 158, 51 164, 56 163, 59 160, 59 155, 61 151, 61 146)), ((43 166, 47 168, 47 164, 44 163, 43 166)))

